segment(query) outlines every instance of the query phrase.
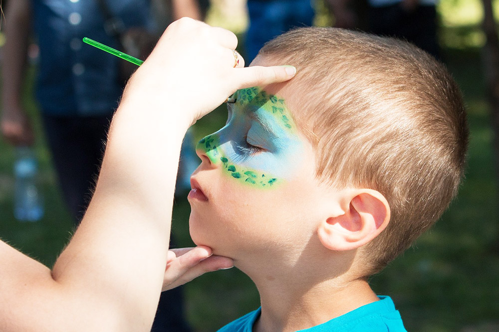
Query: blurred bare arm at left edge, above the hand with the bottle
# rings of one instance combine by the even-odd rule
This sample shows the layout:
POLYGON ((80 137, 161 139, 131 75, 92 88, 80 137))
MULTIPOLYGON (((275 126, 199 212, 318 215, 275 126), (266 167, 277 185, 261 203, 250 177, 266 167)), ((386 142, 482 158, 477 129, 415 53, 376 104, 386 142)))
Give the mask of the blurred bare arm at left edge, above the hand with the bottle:
POLYGON ((20 108, 22 83, 30 32, 28 0, 10 1, 5 9, 5 45, 2 49, 3 109, 20 108))

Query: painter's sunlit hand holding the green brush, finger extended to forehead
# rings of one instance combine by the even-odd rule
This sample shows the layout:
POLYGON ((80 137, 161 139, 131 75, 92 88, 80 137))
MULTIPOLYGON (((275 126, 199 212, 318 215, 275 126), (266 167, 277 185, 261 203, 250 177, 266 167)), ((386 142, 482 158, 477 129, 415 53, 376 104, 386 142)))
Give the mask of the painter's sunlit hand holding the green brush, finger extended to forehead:
POLYGON ((181 18, 165 30, 155 49, 132 76, 123 101, 139 99, 141 109, 182 109, 177 124, 187 129, 214 110, 236 90, 283 82, 293 67, 235 66, 236 35, 191 18, 181 18))

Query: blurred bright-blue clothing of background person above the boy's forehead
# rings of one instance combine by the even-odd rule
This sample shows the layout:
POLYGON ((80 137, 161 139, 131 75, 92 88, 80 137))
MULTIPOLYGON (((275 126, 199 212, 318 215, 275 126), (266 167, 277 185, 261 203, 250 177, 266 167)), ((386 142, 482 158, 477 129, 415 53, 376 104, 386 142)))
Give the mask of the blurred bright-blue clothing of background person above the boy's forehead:
POLYGON ((311 0, 248 0, 250 26, 246 33, 246 61, 250 63, 264 43, 298 26, 311 26, 311 0))

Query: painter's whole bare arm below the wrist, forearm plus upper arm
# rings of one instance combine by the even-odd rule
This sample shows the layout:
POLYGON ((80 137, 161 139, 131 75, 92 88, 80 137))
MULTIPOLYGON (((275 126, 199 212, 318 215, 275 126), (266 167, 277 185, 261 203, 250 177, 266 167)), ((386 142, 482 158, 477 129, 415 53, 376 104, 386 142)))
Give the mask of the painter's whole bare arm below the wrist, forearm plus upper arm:
POLYGON ((154 101, 138 105, 135 96, 116 112, 90 206, 52 271, 0 243, 10 252, 0 255, 9 267, 0 283, 9 301, 1 331, 150 331, 187 127, 168 111, 153 113, 169 120, 152 118, 143 107, 154 101), (168 146, 144 148, 149 140, 159 146, 158 137, 168 146))

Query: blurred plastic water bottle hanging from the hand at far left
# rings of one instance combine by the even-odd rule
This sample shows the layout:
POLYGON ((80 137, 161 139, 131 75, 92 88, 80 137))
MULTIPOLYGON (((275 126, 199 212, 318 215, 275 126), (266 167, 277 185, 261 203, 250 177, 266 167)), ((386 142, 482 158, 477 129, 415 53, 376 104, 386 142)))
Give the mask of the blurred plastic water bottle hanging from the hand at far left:
POLYGON ((17 148, 14 164, 14 217, 19 221, 38 221, 43 216, 43 204, 36 185, 38 165, 31 149, 17 148))

